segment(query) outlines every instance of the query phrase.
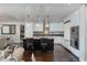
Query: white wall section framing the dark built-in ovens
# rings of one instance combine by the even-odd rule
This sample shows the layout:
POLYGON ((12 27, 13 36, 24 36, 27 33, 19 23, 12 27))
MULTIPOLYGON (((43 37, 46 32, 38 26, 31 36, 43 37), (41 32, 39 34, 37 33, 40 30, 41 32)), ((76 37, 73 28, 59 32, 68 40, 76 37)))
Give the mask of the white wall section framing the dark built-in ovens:
POLYGON ((64 24, 64 43, 63 43, 63 45, 66 48, 68 48, 70 52, 73 52, 78 57, 79 57, 79 51, 70 46, 70 26, 79 25, 79 22, 80 22, 79 13, 80 13, 80 9, 78 9, 73 14, 64 19, 64 22, 67 20, 70 20, 70 22, 64 24))

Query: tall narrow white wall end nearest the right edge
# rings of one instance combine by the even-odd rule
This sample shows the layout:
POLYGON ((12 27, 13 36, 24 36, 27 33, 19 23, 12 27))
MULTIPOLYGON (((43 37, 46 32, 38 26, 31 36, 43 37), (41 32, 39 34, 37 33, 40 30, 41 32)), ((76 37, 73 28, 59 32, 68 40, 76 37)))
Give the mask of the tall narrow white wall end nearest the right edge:
MULTIPOLYGON (((86 18, 86 11, 85 11, 85 6, 83 6, 81 8, 80 8, 80 26, 79 26, 79 29, 80 29, 80 31, 79 31, 79 59, 80 61, 87 61, 87 59, 85 59, 86 57, 85 57, 85 50, 86 50, 86 47, 85 47, 85 44, 86 44, 86 42, 85 42, 85 30, 86 30, 86 28, 85 28, 85 24, 86 24, 86 21, 85 21, 85 18, 86 18)), ((86 39, 87 40, 87 39, 86 39)))

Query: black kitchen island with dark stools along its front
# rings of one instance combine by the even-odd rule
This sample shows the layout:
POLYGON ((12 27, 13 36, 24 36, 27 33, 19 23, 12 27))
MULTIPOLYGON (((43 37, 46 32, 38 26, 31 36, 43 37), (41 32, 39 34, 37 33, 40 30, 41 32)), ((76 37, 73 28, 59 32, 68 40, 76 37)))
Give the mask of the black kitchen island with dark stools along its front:
POLYGON ((53 51, 54 39, 24 39, 23 47, 25 51, 53 51))

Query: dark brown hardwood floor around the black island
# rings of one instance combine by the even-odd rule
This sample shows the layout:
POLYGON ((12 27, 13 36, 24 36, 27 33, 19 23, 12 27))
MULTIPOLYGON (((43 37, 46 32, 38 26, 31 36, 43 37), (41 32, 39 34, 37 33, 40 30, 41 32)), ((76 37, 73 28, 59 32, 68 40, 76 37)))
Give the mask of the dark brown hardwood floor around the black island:
MULTIPOLYGON (((24 52, 23 61, 31 62, 31 53, 24 52)), ((78 62, 78 58, 62 45, 54 45, 54 52, 36 52, 34 55, 37 62, 78 62)))

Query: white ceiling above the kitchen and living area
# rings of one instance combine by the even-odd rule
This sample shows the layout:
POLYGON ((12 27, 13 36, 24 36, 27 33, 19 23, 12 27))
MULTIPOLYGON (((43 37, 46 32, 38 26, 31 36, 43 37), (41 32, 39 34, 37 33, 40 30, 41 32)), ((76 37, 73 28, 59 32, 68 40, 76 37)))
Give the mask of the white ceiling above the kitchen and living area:
POLYGON ((0 21, 36 22, 48 17, 51 22, 62 22, 80 6, 79 3, 0 3, 0 21))

